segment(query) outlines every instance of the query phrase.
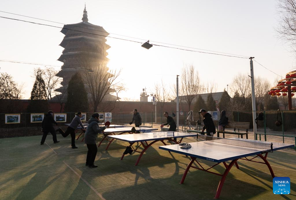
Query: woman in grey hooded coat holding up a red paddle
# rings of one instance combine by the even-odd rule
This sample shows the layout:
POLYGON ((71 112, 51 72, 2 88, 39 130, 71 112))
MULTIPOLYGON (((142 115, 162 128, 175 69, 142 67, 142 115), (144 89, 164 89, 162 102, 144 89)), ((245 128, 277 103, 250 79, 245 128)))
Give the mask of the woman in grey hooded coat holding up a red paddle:
POLYGON ((84 133, 84 143, 87 146, 87 156, 86 156, 86 166, 90 168, 98 167, 94 164, 94 160, 96 158, 96 153, 98 152, 98 148, 96 146, 96 138, 98 137, 98 133, 102 133, 108 126, 104 126, 99 128, 99 113, 94 113, 91 115, 91 118, 88 121, 89 125, 86 128, 84 133))

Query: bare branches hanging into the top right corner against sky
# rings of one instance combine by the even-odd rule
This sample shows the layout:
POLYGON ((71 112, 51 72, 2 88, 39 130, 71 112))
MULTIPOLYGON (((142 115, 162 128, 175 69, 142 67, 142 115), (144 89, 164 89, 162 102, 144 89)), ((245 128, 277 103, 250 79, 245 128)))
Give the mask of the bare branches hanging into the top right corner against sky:
POLYGON ((279 38, 289 43, 292 51, 296 52, 296 1, 279 0, 278 11, 280 22, 276 31, 279 38))

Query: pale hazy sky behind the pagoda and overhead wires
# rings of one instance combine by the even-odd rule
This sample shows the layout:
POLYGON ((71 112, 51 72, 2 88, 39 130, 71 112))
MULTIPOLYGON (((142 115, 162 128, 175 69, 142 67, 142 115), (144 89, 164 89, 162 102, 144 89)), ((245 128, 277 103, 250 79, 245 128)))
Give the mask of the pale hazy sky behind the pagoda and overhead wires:
MULTIPOLYGON (((221 51, 255 57, 263 66, 284 76, 295 66, 289 46, 277 36, 279 24, 277 1, 176 1, 176 0, 88 0, 88 1, 0 1, 0 11, 73 24, 81 22, 84 2, 89 22, 107 32, 144 40, 221 51)), ((46 22, 0 12, 0 16, 62 27, 46 22)), ((57 61, 63 48, 61 28, 0 18, 0 59, 61 66, 57 61)), ((145 42, 144 40, 110 36, 145 42)), ((151 43, 157 43, 151 42, 151 43)), ((238 73, 250 74, 249 59, 225 57, 153 46, 107 38, 111 69, 122 69, 120 79, 127 91, 120 97, 139 99, 142 88, 148 93, 164 80, 176 82, 184 64, 193 64, 204 82, 215 82, 218 91, 238 73)), ((30 97, 35 65, 0 62, 0 72, 7 72, 18 83, 25 83, 24 98, 30 97)), ((42 66, 41 66, 42 67, 42 66)), ((59 69, 59 67, 55 67, 59 69)), ((294 67, 295 68, 295 67, 294 67)), ((254 62, 255 76, 271 83, 277 75, 254 62)), ((169 89, 169 86, 168 86, 169 89)), ((229 89, 230 91, 230 89, 229 89)))

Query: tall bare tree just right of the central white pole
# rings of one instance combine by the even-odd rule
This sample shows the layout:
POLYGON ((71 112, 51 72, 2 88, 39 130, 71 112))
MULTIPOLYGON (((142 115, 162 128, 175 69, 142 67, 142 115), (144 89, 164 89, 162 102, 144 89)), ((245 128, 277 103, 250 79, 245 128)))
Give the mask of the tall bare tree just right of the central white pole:
POLYGON ((184 100, 187 102, 188 108, 190 110, 192 101, 203 91, 204 87, 200 82, 198 71, 195 71, 193 65, 183 67, 181 78, 181 90, 184 94, 184 100))

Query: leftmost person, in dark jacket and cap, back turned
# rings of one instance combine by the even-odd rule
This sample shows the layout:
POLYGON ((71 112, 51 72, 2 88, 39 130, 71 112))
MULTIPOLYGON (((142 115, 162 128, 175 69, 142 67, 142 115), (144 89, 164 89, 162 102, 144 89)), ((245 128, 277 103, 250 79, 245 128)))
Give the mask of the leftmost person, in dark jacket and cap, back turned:
POLYGON ((43 132, 43 136, 41 139, 40 144, 44 144, 45 139, 47 134, 50 132, 52 134, 52 140, 54 141, 54 143, 58 143, 59 141, 57 141, 57 134, 55 133, 54 127, 52 125, 52 123, 57 125, 57 122, 54 121, 54 117, 52 116, 53 112, 52 110, 48 111, 47 114, 45 114, 43 121, 42 121, 42 132, 43 132))

